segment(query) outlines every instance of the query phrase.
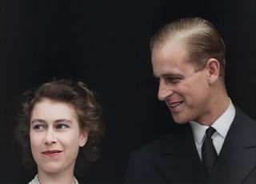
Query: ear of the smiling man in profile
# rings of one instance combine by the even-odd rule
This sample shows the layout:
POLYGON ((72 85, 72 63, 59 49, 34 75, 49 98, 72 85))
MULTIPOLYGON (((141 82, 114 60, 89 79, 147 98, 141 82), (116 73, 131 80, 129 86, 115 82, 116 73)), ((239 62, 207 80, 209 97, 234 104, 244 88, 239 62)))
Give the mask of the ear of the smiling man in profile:
POLYGON ((209 84, 214 84, 214 82, 216 80, 218 80, 219 73, 220 73, 220 65, 219 65, 218 60, 216 60, 214 58, 210 58, 207 61, 206 69, 207 69, 207 73, 208 73, 209 84))

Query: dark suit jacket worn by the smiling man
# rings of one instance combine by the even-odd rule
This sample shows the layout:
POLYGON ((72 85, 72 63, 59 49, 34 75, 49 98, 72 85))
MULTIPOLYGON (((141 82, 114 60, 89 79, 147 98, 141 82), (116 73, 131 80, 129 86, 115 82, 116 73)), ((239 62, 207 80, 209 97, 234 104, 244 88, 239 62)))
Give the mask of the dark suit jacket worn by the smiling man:
POLYGON ((189 123, 133 151, 127 183, 256 183, 256 121, 236 108, 209 178, 189 123))

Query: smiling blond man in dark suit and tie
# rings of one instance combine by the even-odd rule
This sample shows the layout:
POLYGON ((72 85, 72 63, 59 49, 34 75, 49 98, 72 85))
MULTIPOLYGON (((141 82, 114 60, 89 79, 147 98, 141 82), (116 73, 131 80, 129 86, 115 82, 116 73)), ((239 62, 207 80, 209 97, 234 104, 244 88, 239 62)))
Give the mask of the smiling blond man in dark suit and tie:
POLYGON ((182 18, 159 29, 150 50, 158 99, 180 125, 131 154, 126 182, 256 183, 256 121, 227 95, 214 25, 182 18))

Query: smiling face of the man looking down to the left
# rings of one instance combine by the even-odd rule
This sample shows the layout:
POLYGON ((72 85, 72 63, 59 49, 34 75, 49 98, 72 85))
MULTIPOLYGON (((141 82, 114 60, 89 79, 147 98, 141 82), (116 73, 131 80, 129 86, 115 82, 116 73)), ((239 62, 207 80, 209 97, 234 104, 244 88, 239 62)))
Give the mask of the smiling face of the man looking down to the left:
POLYGON ((178 41, 155 46, 151 59, 159 80, 158 99, 166 102, 174 121, 205 121, 210 114, 207 69, 195 72, 185 46, 178 41))

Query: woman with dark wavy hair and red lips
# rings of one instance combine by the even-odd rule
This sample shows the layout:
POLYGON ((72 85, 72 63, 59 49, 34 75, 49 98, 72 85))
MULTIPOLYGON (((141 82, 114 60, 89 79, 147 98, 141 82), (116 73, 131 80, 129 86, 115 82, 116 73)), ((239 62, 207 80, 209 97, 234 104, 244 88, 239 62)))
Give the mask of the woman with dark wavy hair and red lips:
POLYGON ((101 111, 93 92, 82 82, 55 80, 24 97, 16 136, 25 166, 36 168, 30 184, 78 183, 74 168, 81 172, 99 157, 101 111))

